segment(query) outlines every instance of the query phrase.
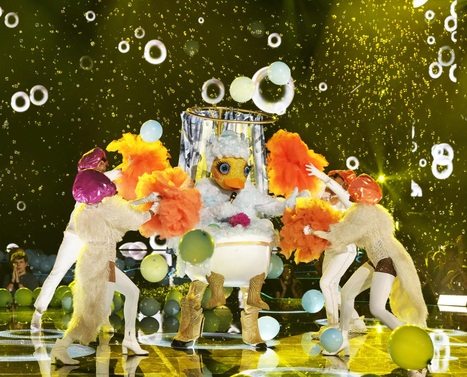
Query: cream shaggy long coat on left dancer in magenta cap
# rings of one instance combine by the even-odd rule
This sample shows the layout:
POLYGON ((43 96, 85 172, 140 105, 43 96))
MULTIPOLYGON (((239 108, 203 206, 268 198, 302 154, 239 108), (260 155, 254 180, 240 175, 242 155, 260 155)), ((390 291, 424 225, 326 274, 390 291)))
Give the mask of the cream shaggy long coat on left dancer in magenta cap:
POLYGON ((83 344, 96 339, 99 327, 108 315, 105 308, 108 262, 115 262, 117 242, 125 233, 137 230, 150 218, 148 211, 134 208, 119 195, 76 209, 76 231, 85 245, 76 261, 72 288, 74 311, 65 335, 71 335, 83 344))

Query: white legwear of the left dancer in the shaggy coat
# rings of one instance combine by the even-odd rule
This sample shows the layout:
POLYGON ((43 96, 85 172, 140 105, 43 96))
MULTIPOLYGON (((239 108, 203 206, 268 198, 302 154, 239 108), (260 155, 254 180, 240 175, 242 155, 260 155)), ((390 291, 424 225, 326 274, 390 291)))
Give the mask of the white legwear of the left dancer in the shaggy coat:
POLYGON ((106 312, 110 310, 114 291, 125 295, 125 305, 123 307, 125 315, 125 338, 135 336, 136 314, 138 312, 138 298, 140 296, 140 290, 135 283, 133 283, 131 279, 117 267, 115 267, 115 283, 108 282, 106 312))

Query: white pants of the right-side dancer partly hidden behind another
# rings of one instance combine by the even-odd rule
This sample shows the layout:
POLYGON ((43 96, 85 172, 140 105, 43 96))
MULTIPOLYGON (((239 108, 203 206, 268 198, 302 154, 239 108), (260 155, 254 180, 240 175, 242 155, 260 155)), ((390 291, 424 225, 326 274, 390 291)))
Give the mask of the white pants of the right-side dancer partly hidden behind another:
MULTIPOLYGON (((320 279, 320 288, 326 305, 328 325, 337 325, 339 323, 339 307, 341 306, 339 283, 357 255, 355 245, 347 245, 346 250, 346 253, 340 254, 324 253, 323 276, 320 279)), ((351 315, 352 320, 359 318, 359 314, 355 309, 352 310, 351 315)))

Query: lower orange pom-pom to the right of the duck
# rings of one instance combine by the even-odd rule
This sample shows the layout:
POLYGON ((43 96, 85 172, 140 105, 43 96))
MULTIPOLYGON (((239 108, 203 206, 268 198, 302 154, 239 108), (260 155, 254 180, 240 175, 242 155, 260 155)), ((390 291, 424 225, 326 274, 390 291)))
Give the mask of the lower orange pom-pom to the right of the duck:
POLYGON ((310 225, 314 230, 329 230, 329 225, 341 219, 340 211, 336 211, 328 202, 314 198, 298 198, 294 208, 286 208, 281 229, 279 247, 287 259, 295 250, 295 263, 308 263, 318 259, 328 246, 328 241, 314 235, 306 235, 303 228, 310 225))

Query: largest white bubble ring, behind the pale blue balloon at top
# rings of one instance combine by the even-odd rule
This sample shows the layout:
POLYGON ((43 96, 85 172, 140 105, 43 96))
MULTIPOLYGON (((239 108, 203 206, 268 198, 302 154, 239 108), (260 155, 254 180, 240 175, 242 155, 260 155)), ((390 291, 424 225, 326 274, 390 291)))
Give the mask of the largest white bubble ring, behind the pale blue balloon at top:
POLYGON ((287 107, 292 103, 294 95, 293 79, 286 85, 277 86, 269 80, 268 68, 263 67, 253 75, 256 90, 253 95, 253 103, 267 113, 284 114, 287 107))

